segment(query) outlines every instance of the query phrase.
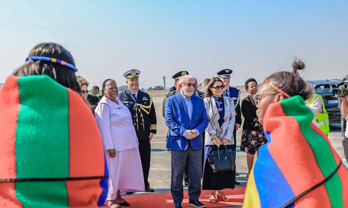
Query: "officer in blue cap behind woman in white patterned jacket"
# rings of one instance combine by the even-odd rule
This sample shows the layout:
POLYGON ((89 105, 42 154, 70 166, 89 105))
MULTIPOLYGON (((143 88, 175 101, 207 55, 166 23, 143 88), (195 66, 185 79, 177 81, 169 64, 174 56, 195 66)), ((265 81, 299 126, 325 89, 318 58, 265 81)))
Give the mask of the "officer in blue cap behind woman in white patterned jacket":
MULTIPOLYGON (((223 70, 218 71, 216 74, 220 77, 223 84, 225 85, 225 88, 223 90, 223 95, 231 97, 235 103, 236 123, 235 123, 235 128, 233 130, 233 137, 234 137, 234 142, 235 142, 234 150, 236 150, 236 144, 237 144, 236 131, 239 129, 240 125, 242 124, 242 113, 240 111, 240 104, 239 104, 240 90, 235 88, 235 87, 230 86, 232 72, 233 71, 231 69, 223 69, 223 70)), ((236 154, 235 154, 235 161, 236 161, 236 154)), ((239 175, 237 173, 237 171, 236 171, 236 175, 239 175)), ((239 185, 239 184, 240 183, 236 181, 236 185, 239 185)))

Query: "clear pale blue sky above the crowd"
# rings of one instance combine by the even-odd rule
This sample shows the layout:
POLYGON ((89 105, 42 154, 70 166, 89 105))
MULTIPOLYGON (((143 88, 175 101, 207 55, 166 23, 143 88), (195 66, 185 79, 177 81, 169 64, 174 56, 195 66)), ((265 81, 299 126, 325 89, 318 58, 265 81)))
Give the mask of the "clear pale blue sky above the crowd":
POLYGON ((91 85, 141 71, 141 87, 232 69, 261 81, 293 58, 306 79, 348 74, 347 0, 0 0, 0 82, 39 42, 60 43, 91 85))

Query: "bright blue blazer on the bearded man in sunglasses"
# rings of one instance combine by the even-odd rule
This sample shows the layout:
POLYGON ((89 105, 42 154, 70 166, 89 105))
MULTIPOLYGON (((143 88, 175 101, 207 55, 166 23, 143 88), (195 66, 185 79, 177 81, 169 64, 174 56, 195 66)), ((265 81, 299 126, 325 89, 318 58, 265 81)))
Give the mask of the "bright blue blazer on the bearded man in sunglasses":
POLYGON ((199 135, 190 139, 193 150, 203 148, 205 129, 208 126, 208 116, 205 110, 204 101, 198 96, 191 96, 192 116, 191 120, 187 112, 186 104, 181 93, 167 97, 164 109, 164 118, 169 128, 169 135, 166 147, 171 150, 186 150, 189 140, 182 136, 185 130, 197 129, 199 135))

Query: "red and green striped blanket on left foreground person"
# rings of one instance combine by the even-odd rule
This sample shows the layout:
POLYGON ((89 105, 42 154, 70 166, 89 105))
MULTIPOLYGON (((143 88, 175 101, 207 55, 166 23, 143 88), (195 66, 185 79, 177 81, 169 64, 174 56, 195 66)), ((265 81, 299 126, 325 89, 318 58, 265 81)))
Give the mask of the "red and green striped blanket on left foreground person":
POLYGON ((10 76, 0 115, 0 207, 104 206, 102 139, 78 93, 46 75, 10 76))

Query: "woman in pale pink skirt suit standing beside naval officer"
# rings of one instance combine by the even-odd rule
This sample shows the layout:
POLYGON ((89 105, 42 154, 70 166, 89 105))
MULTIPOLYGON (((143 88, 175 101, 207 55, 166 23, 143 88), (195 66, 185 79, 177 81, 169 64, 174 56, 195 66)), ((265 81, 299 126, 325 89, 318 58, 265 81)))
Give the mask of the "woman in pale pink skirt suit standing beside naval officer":
POLYGON ((127 107, 117 98, 114 80, 103 82, 103 97, 95 109, 109 167, 108 205, 129 206, 121 193, 144 191, 138 139, 127 107))

